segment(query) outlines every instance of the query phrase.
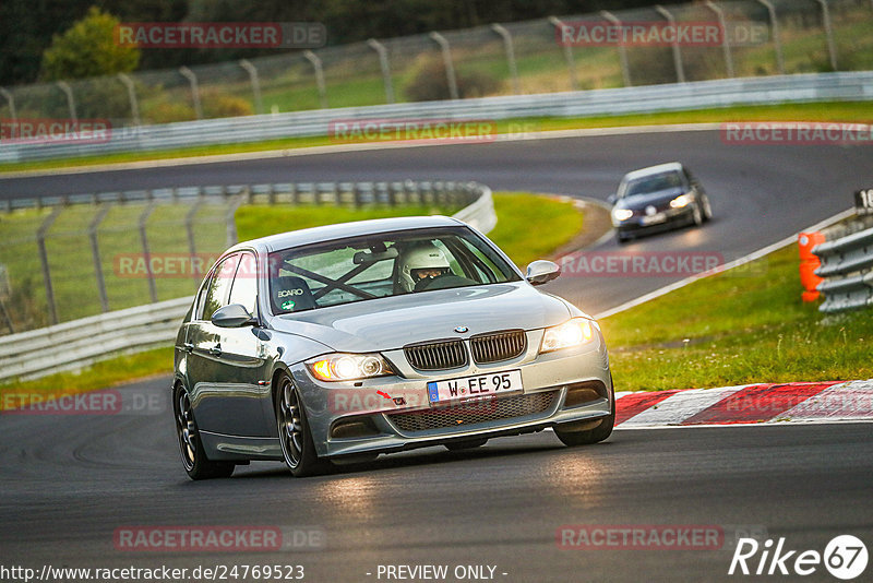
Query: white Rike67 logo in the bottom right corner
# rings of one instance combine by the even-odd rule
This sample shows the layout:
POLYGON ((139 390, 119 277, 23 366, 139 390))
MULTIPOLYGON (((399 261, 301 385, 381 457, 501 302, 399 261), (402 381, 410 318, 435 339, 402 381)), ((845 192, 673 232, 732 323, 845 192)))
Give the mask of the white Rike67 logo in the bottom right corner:
POLYGON ((839 535, 830 539, 824 552, 794 550, 786 547, 785 537, 774 546, 768 538, 760 544, 754 538, 741 538, 737 543, 728 574, 754 575, 811 575, 822 568, 837 579, 849 581, 866 569, 866 546, 852 535, 839 535))

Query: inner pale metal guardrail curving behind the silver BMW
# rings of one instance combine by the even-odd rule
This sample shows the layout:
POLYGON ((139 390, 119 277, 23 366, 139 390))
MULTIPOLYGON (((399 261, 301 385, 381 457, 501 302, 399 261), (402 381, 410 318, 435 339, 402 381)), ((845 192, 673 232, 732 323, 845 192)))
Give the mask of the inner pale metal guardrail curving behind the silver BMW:
MULTIPOLYGON (((475 182, 434 183, 443 185, 446 195, 473 195, 473 202, 455 213, 455 217, 482 233, 494 227, 497 215, 491 189, 475 182)), ((357 189, 352 186, 351 191, 373 191, 372 183, 360 183, 357 189)), ((34 379, 118 354, 166 346, 176 337, 191 301, 192 297, 171 299, 0 336, 0 380, 34 379)))

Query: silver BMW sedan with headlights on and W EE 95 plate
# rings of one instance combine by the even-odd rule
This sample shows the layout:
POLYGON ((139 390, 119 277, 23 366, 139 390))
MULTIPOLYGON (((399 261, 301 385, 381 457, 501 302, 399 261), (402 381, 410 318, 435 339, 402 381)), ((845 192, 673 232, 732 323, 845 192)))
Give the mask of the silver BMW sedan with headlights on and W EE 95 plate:
POLYGON ((176 340, 172 402, 193 479, 284 461, 295 476, 412 448, 552 428, 602 441, 615 404, 589 316, 442 216, 241 242, 204 278, 176 340))

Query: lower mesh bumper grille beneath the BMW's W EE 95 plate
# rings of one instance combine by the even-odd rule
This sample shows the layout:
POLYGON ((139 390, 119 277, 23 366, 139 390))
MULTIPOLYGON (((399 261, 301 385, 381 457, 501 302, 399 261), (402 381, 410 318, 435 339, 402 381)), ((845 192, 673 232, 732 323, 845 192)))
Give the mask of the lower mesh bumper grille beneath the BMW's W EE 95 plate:
POLYGON ((400 431, 412 433, 542 413, 554 404, 557 396, 558 391, 545 391, 527 395, 485 398, 412 413, 394 413, 387 417, 400 431))

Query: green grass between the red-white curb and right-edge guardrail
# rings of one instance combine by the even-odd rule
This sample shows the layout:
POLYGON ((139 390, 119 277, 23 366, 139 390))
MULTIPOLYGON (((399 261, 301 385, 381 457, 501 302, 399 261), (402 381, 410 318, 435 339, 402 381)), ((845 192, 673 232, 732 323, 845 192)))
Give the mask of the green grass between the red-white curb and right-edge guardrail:
POLYGON ((789 246, 606 318, 618 390, 873 377, 870 312, 803 304, 798 261, 789 246))

